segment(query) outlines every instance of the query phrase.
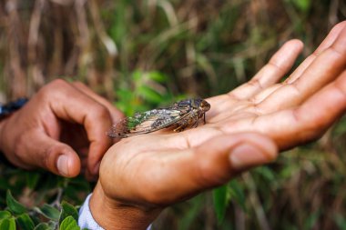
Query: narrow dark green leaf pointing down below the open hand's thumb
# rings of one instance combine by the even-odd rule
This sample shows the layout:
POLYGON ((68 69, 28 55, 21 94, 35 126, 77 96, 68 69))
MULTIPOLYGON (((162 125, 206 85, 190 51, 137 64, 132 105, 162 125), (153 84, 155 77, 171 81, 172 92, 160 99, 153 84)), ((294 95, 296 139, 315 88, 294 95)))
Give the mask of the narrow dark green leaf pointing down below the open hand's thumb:
POLYGON ((222 185, 213 191, 214 209, 218 217, 219 224, 222 223, 227 209, 228 185, 222 185))

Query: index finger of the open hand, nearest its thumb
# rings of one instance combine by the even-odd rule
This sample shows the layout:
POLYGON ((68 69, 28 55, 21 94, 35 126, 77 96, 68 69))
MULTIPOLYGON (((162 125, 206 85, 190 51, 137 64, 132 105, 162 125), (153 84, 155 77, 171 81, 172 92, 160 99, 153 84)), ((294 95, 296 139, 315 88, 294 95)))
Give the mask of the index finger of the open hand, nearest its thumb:
POLYGON ((270 135, 280 149, 287 149, 318 138, 345 112, 346 71, 300 107, 260 116, 248 128, 270 135))

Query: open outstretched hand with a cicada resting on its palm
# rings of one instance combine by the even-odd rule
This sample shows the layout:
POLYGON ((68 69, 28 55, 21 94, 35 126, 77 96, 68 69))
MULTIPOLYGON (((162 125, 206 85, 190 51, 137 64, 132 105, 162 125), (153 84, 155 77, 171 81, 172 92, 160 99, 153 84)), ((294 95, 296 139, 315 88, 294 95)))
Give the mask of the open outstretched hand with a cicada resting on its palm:
POLYGON ((206 99, 206 125, 113 145, 90 201, 97 222, 145 229, 163 207, 270 162, 276 146, 284 150, 321 136, 346 109, 346 22, 278 83, 301 49, 300 41, 286 43, 249 83, 206 99))

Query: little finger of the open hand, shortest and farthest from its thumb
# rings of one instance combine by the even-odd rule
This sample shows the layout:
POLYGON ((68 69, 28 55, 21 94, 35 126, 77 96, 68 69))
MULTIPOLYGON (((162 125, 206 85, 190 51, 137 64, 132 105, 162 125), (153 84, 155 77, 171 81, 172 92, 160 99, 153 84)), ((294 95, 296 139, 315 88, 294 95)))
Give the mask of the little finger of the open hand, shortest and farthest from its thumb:
POLYGON ((292 65, 300 55, 303 44, 300 40, 290 40, 282 45, 280 50, 270 58, 270 62, 260 69, 260 72, 255 75, 248 83, 240 85, 229 95, 236 98, 248 99, 252 95, 256 95, 261 90, 269 87, 280 81, 283 75, 290 71, 292 65))

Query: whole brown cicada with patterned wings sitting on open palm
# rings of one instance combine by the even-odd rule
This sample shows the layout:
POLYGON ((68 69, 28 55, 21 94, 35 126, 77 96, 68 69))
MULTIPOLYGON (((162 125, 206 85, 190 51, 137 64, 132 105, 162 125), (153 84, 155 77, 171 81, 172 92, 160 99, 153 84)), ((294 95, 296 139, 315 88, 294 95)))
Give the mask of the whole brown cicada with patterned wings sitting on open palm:
POLYGON ((200 119, 206 124, 206 112, 210 105, 207 101, 195 98, 176 102, 174 105, 136 113, 113 125, 110 137, 128 137, 148 134, 164 128, 180 132, 188 126, 197 127, 200 119))

